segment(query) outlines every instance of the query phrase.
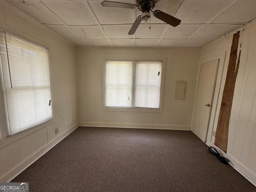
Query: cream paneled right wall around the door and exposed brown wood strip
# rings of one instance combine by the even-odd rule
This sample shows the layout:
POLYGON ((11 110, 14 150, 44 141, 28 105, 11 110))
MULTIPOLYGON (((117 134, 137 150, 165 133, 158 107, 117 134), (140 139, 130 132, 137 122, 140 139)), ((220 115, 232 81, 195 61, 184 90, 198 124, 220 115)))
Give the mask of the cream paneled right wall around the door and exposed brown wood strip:
MULTIPOLYGON (((226 78, 232 37, 233 34, 230 34, 222 40, 212 42, 202 47, 201 52, 201 60, 226 52, 220 100, 226 78)), ((226 156, 234 168, 256 185, 256 24, 242 30, 239 41, 242 44, 241 58, 228 128, 226 156)), ((218 112, 213 126, 215 131, 218 112)), ((210 142, 214 143, 213 136, 210 142)))

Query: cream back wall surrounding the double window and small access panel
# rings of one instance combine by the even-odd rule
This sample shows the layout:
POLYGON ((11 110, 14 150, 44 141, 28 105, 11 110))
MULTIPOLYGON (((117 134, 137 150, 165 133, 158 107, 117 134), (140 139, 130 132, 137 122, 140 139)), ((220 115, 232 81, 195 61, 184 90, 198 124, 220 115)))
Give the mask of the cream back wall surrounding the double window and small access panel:
POLYGON ((76 48, 78 111, 81 126, 190 130, 200 48, 76 48), (166 74, 163 112, 103 110, 104 57, 164 57, 166 74), (174 101, 176 80, 187 80, 185 102, 174 101))

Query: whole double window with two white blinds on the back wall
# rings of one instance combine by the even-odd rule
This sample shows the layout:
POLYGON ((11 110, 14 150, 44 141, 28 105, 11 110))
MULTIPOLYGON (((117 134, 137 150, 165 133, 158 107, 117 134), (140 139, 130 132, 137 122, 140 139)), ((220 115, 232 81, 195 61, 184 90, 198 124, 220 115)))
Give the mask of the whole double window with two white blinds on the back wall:
POLYGON ((105 109, 162 112, 165 61, 105 59, 105 109))

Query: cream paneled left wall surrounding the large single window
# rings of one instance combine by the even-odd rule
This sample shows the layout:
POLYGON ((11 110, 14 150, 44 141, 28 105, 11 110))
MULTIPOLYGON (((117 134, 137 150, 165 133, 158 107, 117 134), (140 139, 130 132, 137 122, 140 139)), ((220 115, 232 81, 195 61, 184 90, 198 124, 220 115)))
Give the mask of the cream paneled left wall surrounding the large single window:
POLYGON ((77 78, 75 46, 2 0, 0 28, 49 47, 55 110, 53 123, 0 141, 0 181, 8 182, 78 126, 77 78))

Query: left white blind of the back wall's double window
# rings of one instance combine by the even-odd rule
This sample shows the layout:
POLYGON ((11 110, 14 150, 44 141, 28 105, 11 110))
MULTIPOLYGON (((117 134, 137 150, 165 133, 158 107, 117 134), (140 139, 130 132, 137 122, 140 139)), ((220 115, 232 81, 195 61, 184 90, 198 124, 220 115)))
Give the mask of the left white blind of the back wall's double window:
POLYGON ((108 107, 130 107, 132 102, 132 61, 106 60, 108 107))

